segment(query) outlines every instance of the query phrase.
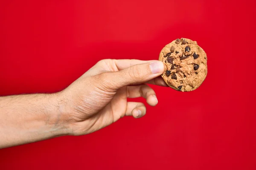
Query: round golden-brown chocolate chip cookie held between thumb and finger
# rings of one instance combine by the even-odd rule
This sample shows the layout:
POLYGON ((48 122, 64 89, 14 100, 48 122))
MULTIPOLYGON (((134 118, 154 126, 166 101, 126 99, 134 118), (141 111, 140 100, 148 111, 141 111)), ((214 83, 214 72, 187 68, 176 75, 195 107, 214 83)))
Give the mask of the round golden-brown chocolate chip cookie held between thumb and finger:
POLYGON ((207 76, 207 56, 196 41, 181 38, 167 44, 159 55, 165 65, 162 77, 177 91, 197 89, 207 76))

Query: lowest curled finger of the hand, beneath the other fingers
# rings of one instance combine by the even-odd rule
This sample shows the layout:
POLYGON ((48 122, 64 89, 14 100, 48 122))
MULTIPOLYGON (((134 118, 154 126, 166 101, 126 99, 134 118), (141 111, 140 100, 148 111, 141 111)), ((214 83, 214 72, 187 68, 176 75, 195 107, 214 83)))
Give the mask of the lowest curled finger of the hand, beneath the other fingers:
POLYGON ((140 102, 127 102, 125 116, 140 118, 146 114, 146 107, 140 102))

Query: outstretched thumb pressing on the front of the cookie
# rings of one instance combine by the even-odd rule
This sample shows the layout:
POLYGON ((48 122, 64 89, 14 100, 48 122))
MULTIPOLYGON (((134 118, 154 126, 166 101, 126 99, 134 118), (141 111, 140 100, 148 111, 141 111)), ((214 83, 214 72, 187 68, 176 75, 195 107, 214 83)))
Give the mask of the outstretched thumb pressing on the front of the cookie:
POLYGON ((133 65, 121 71, 108 72, 108 80, 111 81, 111 86, 114 89, 119 89, 125 85, 135 85, 147 82, 160 76, 163 72, 163 62, 154 61, 133 65))

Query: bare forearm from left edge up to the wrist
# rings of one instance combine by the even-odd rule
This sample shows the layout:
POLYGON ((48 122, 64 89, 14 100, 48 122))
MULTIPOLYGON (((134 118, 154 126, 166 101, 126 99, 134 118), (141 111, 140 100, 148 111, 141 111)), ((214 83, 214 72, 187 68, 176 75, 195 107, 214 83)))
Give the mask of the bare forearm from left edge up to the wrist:
POLYGON ((56 94, 0 97, 0 148, 67 135, 56 94))

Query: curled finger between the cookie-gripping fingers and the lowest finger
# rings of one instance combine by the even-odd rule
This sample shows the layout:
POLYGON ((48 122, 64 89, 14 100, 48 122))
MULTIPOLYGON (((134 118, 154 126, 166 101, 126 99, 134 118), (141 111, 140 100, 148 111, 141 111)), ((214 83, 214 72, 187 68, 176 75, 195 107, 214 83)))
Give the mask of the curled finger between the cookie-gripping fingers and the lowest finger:
POLYGON ((127 86, 127 97, 136 98, 143 97, 148 105, 155 106, 158 103, 156 93, 148 85, 127 86))

